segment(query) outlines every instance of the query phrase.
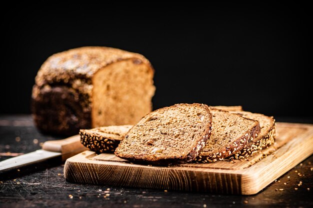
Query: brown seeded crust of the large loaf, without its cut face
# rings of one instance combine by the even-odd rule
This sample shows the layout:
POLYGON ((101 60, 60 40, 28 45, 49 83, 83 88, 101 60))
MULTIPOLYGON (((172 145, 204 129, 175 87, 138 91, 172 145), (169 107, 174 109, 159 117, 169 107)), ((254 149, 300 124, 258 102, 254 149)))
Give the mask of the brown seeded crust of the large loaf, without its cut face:
POLYGON ((142 55, 109 47, 81 47, 56 53, 40 67, 32 88, 35 125, 46 133, 73 135, 92 127, 92 77, 109 64, 132 60, 148 64, 142 55))

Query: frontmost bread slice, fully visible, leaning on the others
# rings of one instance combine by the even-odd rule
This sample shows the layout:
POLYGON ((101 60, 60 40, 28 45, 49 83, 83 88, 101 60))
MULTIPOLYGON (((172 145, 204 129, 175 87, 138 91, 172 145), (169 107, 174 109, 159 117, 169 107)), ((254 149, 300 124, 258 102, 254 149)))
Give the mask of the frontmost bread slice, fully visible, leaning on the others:
POLYGON ((129 161, 154 165, 190 162, 211 133, 212 115, 204 104, 176 104, 144 116, 115 150, 129 161))

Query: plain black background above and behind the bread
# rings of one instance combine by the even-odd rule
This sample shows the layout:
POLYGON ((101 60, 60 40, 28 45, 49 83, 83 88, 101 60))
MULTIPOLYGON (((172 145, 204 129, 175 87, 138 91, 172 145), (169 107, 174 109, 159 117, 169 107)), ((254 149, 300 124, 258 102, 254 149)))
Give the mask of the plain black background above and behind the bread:
POLYGON ((154 109, 200 102, 313 116, 304 72, 312 68, 308 5, 102 3, 2 8, 0 113, 30 113, 34 77, 48 56, 100 45, 151 61, 154 109))

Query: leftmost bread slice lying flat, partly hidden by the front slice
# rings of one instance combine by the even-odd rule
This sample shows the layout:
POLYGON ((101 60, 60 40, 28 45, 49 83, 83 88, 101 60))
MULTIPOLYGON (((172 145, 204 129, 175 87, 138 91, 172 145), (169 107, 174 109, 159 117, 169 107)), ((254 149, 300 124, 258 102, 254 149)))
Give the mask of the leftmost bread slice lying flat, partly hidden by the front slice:
POLYGON ((97 153, 114 152, 132 125, 105 126, 79 131, 80 142, 97 153))

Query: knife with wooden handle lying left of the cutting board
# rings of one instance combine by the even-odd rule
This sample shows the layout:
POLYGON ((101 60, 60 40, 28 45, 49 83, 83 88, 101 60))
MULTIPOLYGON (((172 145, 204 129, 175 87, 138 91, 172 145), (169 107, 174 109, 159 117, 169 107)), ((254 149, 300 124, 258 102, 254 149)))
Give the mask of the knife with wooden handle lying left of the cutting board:
POLYGON ((0 173, 56 157, 60 157, 61 161, 64 162, 67 158, 85 150, 87 150, 87 148, 80 143, 79 135, 62 140, 46 141, 43 143, 41 150, 36 150, 31 153, 1 161, 0 173))

